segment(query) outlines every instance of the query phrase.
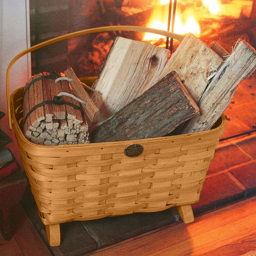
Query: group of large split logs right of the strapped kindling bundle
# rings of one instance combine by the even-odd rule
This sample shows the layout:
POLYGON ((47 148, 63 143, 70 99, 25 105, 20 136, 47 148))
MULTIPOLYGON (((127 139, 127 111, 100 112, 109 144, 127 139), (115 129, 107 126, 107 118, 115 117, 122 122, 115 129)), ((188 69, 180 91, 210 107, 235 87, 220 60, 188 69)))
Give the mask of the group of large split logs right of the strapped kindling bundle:
POLYGON ((140 61, 145 51, 141 47, 140 54, 134 54, 139 44, 146 43, 120 38, 113 43, 93 86, 102 93, 96 106, 103 106, 101 116, 107 120, 93 126, 92 142, 160 137, 178 126, 176 134, 210 129, 238 84, 256 69, 256 51, 245 41, 238 41, 229 54, 217 43, 208 47, 189 33, 164 67, 153 46, 140 61), (133 64, 136 69, 130 72, 133 64))

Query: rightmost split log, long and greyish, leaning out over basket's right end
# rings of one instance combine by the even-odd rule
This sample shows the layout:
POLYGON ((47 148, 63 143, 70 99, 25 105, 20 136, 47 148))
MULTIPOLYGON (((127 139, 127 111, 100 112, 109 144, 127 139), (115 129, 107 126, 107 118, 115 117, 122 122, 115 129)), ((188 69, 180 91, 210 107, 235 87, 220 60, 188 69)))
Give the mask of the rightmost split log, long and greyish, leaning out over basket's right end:
POLYGON ((229 105, 238 84, 256 69, 256 51, 242 41, 221 66, 202 95, 201 115, 186 122, 182 134, 210 129, 229 105))

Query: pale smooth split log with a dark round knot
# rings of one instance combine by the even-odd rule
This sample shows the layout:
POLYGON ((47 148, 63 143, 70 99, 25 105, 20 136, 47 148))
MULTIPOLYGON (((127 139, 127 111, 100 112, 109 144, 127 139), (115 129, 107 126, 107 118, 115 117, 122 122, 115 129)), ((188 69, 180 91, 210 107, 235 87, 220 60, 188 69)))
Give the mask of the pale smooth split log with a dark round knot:
POLYGON ((117 37, 93 84, 93 89, 102 93, 91 94, 100 110, 99 122, 154 85, 168 56, 168 49, 117 37))

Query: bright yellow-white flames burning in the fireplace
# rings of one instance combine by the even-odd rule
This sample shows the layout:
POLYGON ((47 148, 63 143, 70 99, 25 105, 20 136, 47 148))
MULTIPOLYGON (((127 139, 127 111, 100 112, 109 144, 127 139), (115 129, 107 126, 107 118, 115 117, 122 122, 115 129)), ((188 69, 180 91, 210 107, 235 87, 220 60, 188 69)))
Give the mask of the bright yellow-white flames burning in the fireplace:
MULTIPOLYGON (((155 0, 155 2, 158 4, 154 7, 154 12, 146 26, 167 30, 169 0, 155 0)), ((174 32, 182 35, 191 32, 196 36, 206 35, 212 29, 218 29, 220 26, 218 20, 222 15, 239 18, 242 11, 244 16, 249 17, 253 3, 249 0, 229 0, 227 3, 221 3, 221 0, 186 0, 183 2, 177 1, 174 32), (199 24, 204 24, 209 18, 212 19, 212 24, 200 28, 199 24)), ((164 36, 146 33, 143 41, 155 43, 160 38, 163 38, 163 41, 166 39, 164 36)))

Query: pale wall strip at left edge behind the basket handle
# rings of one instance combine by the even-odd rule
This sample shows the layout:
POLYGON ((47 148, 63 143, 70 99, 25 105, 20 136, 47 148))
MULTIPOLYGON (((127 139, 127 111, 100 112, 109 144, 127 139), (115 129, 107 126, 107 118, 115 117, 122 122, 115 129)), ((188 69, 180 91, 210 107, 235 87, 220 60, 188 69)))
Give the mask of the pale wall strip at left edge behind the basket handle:
MULTIPOLYGON (((30 47, 29 0, 0 1, 0 111, 6 115, 0 119, 0 129, 12 138, 6 145, 21 164, 20 154, 13 130, 9 131, 6 103, 6 69, 19 52, 30 47)), ((11 72, 11 93, 24 86, 30 73, 30 56, 22 57, 14 64, 11 72)))

